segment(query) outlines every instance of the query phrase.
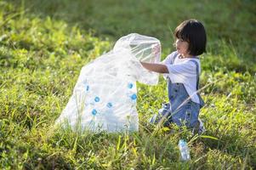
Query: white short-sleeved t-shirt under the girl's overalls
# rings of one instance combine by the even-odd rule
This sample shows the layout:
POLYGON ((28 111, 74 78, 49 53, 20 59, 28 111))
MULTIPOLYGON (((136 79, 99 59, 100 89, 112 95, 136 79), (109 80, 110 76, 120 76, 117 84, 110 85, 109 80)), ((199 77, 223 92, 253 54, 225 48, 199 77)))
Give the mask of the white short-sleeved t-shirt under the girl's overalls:
POLYGON ((187 93, 190 95, 191 100, 200 104, 199 98, 196 94, 196 64, 190 60, 195 60, 199 66, 199 74, 201 72, 200 60, 198 58, 179 58, 178 56, 174 59, 173 65, 171 65, 172 58, 174 54, 178 52, 175 51, 169 54, 166 59, 162 61, 163 64, 168 67, 168 77, 171 82, 183 83, 187 93))

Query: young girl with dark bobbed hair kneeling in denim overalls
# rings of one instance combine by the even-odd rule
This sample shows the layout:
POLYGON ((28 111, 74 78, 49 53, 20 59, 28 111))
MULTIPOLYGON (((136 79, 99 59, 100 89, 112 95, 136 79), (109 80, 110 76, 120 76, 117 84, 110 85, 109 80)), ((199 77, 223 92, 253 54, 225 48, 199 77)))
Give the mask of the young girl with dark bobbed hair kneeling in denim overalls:
POLYGON ((163 105, 151 122, 163 123, 165 127, 174 122, 200 133, 202 122, 198 120, 198 114, 204 102, 198 94, 201 72, 198 56, 206 52, 206 31, 198 20, 185 20, 175 29, 174 37, 177 50, 162 64, 141 62, 149 71, 168 74, 169 103, 163 105))

